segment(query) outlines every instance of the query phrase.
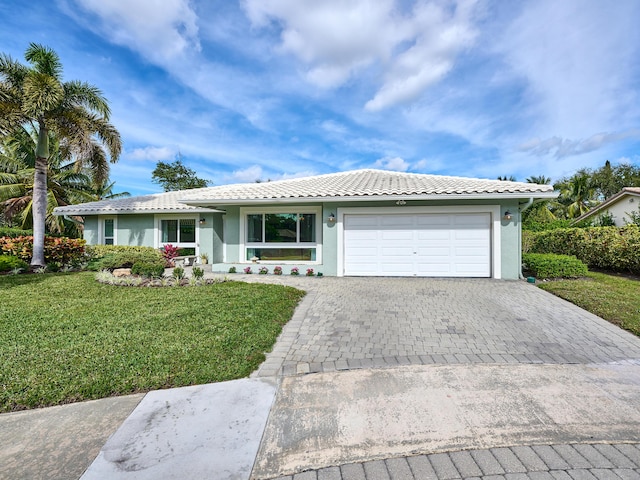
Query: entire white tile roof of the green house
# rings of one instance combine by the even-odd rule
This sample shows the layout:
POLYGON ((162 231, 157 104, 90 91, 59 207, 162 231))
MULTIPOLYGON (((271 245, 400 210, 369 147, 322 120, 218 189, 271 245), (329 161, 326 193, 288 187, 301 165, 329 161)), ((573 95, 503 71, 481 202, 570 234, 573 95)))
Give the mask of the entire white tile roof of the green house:
POLYGON ((354 170, 274 182, 242 183, 102 200, 58 207, 57 215, 205 211, 204 206, 250 202, 389 198, 554 198, 550 185, 447 177, 386 170, 354 170), (200 207, 198 207, 200 206, 200 207))

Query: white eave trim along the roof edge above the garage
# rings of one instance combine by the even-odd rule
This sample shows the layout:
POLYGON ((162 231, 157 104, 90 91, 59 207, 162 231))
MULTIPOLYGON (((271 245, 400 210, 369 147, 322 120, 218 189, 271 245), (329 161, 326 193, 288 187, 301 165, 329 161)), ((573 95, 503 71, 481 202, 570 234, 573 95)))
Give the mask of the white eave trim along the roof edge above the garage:
POLYGON ((329 203, 329 202, 380 202, 380 201, 417 201, 417 200, 500 200, 500 199, 545 199, 557 198, 558 192, 509 192, 509 193, 434 193, 429 195, 352 195, 345 197, 287 197, 287 198, 254 198, 254 199, 222 199, 210 200, 178 200, 187 205, 256 205, 267 203, 329 203))

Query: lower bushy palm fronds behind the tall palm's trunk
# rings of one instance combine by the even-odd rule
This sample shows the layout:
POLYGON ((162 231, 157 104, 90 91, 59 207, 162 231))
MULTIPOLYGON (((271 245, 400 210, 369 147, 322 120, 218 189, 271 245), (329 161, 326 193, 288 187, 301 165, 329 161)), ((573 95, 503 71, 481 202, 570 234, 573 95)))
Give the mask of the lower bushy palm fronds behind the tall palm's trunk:
MULTIPOLYGON (((5 137, 0 145, 0 202, 3 217, 18 223, 20 228, 33 227, 33 190, 35 176, 35 132, 21 129, 5 137)), ((53 215, 62 205, 88 202, 95 199, 91 178, 77 172, 72 159, 64 159, 58 142, 50 135, 50 155, 47 165, 47 215, 45 230, 77 234, 77 224, 70 224, 53 215)))

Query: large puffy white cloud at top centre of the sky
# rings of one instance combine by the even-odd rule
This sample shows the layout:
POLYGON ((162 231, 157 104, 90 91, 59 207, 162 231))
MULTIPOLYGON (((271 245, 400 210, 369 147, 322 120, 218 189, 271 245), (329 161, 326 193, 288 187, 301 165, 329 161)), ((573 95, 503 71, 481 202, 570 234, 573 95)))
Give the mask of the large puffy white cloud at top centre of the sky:
POLYGON ((382 86, 366 103, 376 111, 417 98, 453 68, 476 38, 476 0, 417 1, 402 12, 396 0, 246 0, 255 26, 272 20, 280 48, 309 65, 307 79, 331 88, 365 68, 383 72, 382 86))

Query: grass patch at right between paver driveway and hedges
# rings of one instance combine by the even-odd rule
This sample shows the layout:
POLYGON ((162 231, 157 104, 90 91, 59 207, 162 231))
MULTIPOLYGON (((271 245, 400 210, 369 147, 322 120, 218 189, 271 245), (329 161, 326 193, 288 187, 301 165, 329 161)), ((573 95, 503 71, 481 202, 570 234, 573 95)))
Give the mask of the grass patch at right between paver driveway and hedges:
POLYGON ((589 272, 580 280, 557 280, 540 288, 640 336, 640 280, 589 272))

